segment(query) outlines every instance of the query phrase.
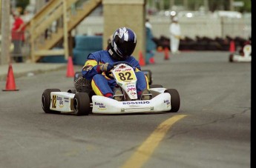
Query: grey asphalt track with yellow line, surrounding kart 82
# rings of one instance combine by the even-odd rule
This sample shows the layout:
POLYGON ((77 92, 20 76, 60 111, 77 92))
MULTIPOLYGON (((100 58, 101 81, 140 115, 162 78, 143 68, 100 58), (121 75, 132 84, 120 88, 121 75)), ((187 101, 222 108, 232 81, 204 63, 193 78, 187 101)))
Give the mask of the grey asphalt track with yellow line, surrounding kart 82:
POLYGON ((230 63, 227 52, 163 58, 142 70, 179 91, 179 112, 46 114, 43 91, 67 91, 73 78, 65 70, 16 78, 19 91, 0 94, 0 167, 250 167, 251 63, 230 63))

